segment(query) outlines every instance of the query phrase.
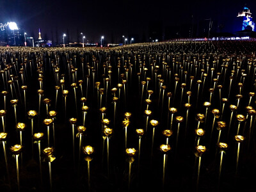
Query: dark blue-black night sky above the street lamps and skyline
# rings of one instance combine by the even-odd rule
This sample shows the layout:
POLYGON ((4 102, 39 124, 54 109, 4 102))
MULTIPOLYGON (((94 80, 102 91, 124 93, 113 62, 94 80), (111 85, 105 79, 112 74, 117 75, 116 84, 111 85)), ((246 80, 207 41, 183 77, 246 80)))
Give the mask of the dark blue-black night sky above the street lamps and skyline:
MULTIPOLYGON (((162 21, 164 26, 191 24, 191 15, 195 22, 212 18, 228 28, 228 23, 247 5, 256 17, 256 3, 246 1, 102 1, 102 0, 1 0, 0 22, 17 22, 29 36, 38 36, 41 29, 42 38, 62 40, 63 33, 68 32, 68 40, 79 41, 80 33, 86 40, 100 42, 105 40, 120 42, 122 35, 148 35, 148 24, 162 21)), ((148 36, 147 36, 148 38, 148 36)))

